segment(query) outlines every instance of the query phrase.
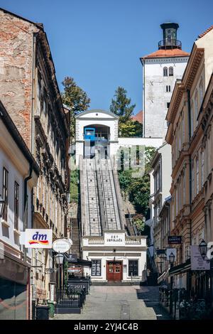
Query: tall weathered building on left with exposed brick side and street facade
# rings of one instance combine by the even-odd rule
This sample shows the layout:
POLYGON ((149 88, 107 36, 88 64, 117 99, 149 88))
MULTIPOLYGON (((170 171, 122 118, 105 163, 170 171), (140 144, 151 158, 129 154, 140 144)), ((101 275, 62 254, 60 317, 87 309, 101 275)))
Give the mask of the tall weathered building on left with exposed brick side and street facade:
MULTIPOLYGON (((33 194, 33 228, 66 235, 69 191, 69 112, 64 109, 43 25, 0 10, 0 94, 28 149, 40 166, 33 194)), ((48 299, 51 252, 32 252, 33 291, 48 299)))

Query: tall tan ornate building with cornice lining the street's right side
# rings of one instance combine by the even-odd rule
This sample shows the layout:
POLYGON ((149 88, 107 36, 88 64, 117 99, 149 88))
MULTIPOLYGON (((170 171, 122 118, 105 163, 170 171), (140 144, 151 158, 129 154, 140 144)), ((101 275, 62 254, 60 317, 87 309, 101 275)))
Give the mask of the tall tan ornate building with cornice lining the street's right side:
POLYGON ((175 84, 166 135, 173 163, 170 230, 172 235, 182 236, 182 243, 176 246, 175 264, 181 270, 173 268, 175 285, 201 298, 209 293, 210 277, 204 271, 195 274, 191 270, 190 246, 198 247, 202 239, 211 238, 212 222, 206 203, 212 191, 212 128, 208 118, 211 102, 210 95, 207 97, 207 87, 211 94, 212 85, 212 45, 213 30, 209 28, 195 41, 182 80, 175 84))

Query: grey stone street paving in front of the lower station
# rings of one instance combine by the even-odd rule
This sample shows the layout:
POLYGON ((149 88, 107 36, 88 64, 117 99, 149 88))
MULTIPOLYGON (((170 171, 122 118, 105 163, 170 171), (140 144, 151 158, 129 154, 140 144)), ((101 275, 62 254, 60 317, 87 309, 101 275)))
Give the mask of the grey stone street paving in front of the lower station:
POLYGON ((81 314, 58 314, 55 320, 165 320, 158 286, 91 286, 81 314))

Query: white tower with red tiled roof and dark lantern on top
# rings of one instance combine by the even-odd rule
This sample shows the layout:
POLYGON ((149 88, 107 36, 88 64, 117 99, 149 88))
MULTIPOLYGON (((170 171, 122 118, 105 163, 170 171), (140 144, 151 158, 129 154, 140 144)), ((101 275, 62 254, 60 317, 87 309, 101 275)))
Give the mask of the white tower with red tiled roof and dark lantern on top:
POLYGON ((182 78, 189 53, 177 39, 178 23, 163 23, 158 50, 141 58, 143 65, 143 137, 165 138, 165 116, 175 81, 182 78))

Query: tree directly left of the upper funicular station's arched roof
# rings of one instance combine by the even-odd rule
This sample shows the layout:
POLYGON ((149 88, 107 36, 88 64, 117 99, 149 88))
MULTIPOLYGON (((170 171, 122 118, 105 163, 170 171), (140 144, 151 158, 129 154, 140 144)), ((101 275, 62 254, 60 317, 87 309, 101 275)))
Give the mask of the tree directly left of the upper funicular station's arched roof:
POLYGON ((70 136, 75 138, 75 115, 89 108, 90 99, 87 93, 77 86, 73 77, 65 77, 62 82, 64 91, 61 93, 62 102, 71 108, 70 136))

